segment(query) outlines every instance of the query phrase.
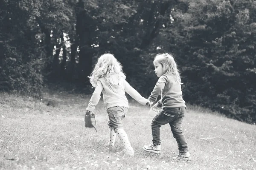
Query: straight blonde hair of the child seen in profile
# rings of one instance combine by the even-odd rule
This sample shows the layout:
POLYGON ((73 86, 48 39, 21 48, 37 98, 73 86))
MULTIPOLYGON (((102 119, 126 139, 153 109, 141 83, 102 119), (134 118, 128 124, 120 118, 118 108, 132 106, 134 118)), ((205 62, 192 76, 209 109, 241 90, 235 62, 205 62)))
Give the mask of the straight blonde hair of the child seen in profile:
POLYGON ((163 74, 169 74, 175 77, 175 81, 181 83, 180 79, 180 71, 177 68, 177 64, 171 54, 163 53, 163 54, 157 54, 154 58, 154 65, 156 63, 159 63, 163 66, 163 74))

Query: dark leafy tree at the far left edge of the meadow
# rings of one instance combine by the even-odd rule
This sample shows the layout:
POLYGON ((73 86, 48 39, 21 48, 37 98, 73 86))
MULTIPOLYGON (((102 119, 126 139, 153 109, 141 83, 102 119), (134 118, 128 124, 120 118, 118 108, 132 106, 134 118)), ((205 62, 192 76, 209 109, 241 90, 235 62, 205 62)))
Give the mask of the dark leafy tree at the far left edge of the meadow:
POLYGON ((29 12, 16 1, 2 0, 0 8, 0 90, 38 95, 43 84, 40 51, 27 28, 29 12))

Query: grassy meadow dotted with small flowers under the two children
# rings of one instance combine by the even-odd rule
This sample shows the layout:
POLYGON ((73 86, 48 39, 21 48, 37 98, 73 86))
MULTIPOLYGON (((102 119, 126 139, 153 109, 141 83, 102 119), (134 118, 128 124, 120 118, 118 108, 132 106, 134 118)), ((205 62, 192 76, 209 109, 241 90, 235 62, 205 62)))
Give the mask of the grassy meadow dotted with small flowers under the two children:
POLYGON ((188 105, 183 124, 192 161, 174 162, 177 143, 170 127, 161 129, 162 153, 143 150, 151 143, 149 108, 130 102, 124 119, 134 157, 108 150, 108 117, 96 107, 96 132, 84 127, 90 96, 44 91, 44 97, 0 94, 0 170, 255 170, 256 126, 188 105), (48 106, 47 106, 48 104, 48 106))

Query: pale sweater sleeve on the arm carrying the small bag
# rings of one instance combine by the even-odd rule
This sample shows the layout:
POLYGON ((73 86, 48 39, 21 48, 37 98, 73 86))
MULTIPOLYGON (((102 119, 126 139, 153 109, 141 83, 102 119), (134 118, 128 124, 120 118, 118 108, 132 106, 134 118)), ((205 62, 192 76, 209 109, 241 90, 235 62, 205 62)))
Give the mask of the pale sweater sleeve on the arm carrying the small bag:
POLYGON ((103 90, 103 86, 100 81, 97 82, 96 88, 91 96, 90 102, 88 107, 86 108, 87 111, 93 111, 95 106, 99 103, 100 94, 103 90))

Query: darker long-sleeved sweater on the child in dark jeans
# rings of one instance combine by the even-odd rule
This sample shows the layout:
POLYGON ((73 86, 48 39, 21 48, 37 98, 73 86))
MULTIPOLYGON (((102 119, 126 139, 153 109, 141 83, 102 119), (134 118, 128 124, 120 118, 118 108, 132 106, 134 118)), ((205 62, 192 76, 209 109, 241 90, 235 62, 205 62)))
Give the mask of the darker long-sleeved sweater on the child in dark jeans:
POLYGON ((148 99, 155 102, 159 95, 161 95, 161 99, 157 102, 158 108, 186 108, 185 101, 182 98, 181 85, 171 75, 162 75, 158 79, 148 99))

